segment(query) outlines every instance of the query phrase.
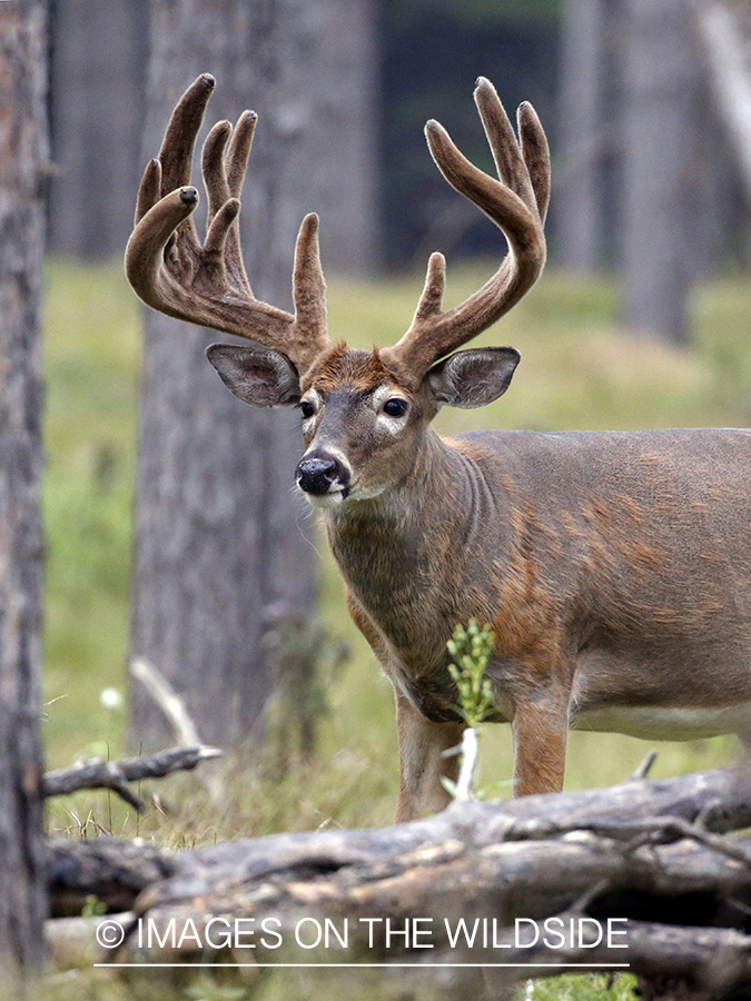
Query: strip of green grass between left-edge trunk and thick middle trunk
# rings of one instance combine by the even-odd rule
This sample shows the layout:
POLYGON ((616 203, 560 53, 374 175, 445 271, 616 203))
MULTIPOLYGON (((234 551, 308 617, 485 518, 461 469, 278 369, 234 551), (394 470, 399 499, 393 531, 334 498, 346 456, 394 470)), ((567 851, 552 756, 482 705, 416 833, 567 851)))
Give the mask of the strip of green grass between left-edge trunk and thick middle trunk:
POLYGON ((123 690, 128 645, 140 338, 120 271, 49 268, 45 692, 65 697, 48 706, 42 733, 56 766, 121 744, 122 720, 99 701, 106 687, 123 690))

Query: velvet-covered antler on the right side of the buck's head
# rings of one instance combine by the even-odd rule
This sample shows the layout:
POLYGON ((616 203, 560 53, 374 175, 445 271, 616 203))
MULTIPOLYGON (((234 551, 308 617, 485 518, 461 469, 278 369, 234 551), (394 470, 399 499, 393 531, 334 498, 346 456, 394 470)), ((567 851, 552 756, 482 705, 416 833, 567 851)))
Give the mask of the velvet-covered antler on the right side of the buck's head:
POLYGON ((475 102, 500 180, 467 160, 437 121, 428 121, 425 135, 443 176, 503 230, 508 254, 478 291, 445 313, 445 261, 443 255, 432 255, 409 329, 398 344, 381 353, 415 384, 434 361, 507 313, 534 285, 545 262, 543 220, 550 197, 550 153, 542 126, 532 106, 522 105, 517 142, 495 88, 483 77, 477 81, 475 102))

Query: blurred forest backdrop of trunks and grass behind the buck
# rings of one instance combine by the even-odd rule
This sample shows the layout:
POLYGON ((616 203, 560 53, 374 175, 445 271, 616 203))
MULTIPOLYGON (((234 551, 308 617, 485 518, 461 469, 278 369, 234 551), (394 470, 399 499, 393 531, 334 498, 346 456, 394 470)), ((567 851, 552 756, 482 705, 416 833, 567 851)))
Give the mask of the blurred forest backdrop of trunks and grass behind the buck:
MULTIPOLYGON (((449 303, 503 252, 422 137, 438 118, 487 167, 471 99, 487 76, 507 108, 532 100, 551 138, 551 260, 482 341, 522 351, 513 390, 484 410, 442 414, 439 429, 747 426, 751 171, 732 95, 749 75, 727 57, 743 48, 749 6, 22 6, 49 14, 46 763, 172 739, 129 674, 138 657, 169 678, 199 735, 227 751, 214 776, 220 809, 202 784, 175 779, 150 791, 144 817, 80 794, 49 806, 47 829, 181 848, 388 823, 393 698, 347 618, 315 518, 295 507, 295 422, 237 404, 202 359, 206 331, 137 304, 121 258, 140 169, 179 93, 214 72, 211 121, 247 106, 260 116, 243 236, 261 295, 288 305, 294 230, 315 209, 333 336, 393 343, 428 251, 449 257, 449 303), (710 8, 731 17, 730 36, 706 20, 710 8)), ((483 794, 506 796, 507 727, 483 741, 483 794)), ((567 785, 619 782, 646 750, 574 734, 567 785)), ((729 740, 665 745, 654 774, 733 754, 729 740)))

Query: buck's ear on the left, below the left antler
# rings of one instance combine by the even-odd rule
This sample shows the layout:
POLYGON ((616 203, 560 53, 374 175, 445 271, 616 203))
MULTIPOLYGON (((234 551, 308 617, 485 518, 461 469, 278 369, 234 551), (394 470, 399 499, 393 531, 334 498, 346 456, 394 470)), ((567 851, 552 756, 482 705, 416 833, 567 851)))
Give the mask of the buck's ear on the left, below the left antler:
POLYGON ((254 407, 288 407, 299 403, 297 369, 284 355, 258 346, 213 344, 206 357, 230 393, 254 407))

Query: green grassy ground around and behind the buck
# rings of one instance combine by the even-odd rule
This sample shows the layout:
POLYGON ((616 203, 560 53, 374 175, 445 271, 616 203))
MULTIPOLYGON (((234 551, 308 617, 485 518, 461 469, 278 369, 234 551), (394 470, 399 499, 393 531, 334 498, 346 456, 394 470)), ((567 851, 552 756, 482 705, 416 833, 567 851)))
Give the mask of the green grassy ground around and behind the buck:
MULTIPOLYGON (((486 271, 472 267, 452 274, 449 296, 464 297, 486 271)), ((409 321, 419 285, 418 276, 374 285, 332 281, 333 336, 364 346, 393 343, 409 321)), ((53 262, 47 314, 45 692, 50 704, 43 736, 49 765, 60 766, 92 753, 117 756, 122 744, 125 708, 107 707, 101 693, 126 692, 140 348, 138 307, 119 265, 53 262)), ((507 395, 483 410, 444 410, 439 429, 745 426, 751 423, 750 314, 745 279, 698 289, 691 305, 694 347, 678 350, 619 327, 611 283, 550 271, 495 334, 482 338, 522 351, 507 395)), ((325 554, 323 543, 319 549, 325 554)), ((192 845, 320 824, 389 822, 397 784, 391 692, 348 621, 326 555, 320 573, 320 615, 333 633, 348 640, 353 656, 330 688, 330 714, 315 764, 273 785, 263 770, 236 766, 227 776, 223 810, 207 810, 200 786, 177 777, 159 786, 159 804, 141 821, 103 793, 60 800, 50 807, 50 829, 140 833, 192 845)), ((481 785, 487 795, 505 796, 508 727, 488 727, 483 741, 481 785)), ((619 782, 648 750, 617 735, 573 734, 567 786, 619 782)), ((666 744, 653 774, 711 767, 733 753, 729 740, 666 744)), ((260 997, 275 1001, 278 990, 268 987, 260 997)), ((623 983, 609 993, 604 981, 569 978, 541 984, 535 998, 605 999, 629 992, 623 983)), ((207 988, 195 997, 214 994, 207 988)))

